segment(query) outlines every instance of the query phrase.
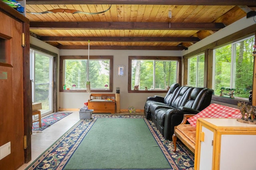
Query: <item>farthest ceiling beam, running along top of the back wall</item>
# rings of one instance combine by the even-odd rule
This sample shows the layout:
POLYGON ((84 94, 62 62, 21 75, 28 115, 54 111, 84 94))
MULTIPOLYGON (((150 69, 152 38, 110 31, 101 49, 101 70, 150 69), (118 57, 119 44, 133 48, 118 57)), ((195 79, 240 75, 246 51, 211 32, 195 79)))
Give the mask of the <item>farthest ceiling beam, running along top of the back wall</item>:
MULTIPOLYGON (((58 49, 88 49, 87 45, 58 45, 58 49)), ((117 45, 90 45, 92 50, 184 50, 182 46, 117 46, 117 45)))

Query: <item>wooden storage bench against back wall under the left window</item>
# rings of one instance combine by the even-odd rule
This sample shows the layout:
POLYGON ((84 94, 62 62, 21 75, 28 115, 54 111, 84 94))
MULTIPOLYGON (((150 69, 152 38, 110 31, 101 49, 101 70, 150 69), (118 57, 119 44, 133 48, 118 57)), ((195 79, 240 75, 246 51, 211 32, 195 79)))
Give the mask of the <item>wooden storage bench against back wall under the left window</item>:
POLYGON ((90 94, 88 109, 94 109, 94 113, 116 113, 115 94, 90 94))

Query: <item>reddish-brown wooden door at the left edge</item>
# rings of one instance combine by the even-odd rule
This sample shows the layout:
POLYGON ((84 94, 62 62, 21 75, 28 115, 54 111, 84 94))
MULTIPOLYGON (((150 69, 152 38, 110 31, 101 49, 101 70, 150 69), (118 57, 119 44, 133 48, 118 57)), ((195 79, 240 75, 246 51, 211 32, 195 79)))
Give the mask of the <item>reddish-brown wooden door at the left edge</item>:
POLYGON ((0 12, 0 146, 10 142, 1 170, 24 163, 22 23, 0 12))

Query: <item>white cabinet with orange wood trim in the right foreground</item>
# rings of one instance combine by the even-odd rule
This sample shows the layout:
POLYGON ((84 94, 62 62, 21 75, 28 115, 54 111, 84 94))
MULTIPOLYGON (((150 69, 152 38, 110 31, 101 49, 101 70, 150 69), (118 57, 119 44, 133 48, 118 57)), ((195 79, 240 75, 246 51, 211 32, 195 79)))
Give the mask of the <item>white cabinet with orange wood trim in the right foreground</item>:
POLYGON ((195 170, 256 170, 256 125, 229 118, 199 118, 195 170))

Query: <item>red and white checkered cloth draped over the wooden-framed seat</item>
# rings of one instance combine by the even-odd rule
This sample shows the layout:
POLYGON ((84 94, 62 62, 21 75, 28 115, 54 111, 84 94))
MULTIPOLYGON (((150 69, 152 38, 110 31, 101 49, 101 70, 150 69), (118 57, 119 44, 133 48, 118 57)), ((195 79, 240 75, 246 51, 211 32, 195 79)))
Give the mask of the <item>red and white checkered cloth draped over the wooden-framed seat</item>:
POLYGON ((223 106, 220 104, 210 104, 196 115, 190 117, 188 122, 190 125, 196 127, 196 121, 198 118, 241 118, 241 112, 234 107, 223 106))

